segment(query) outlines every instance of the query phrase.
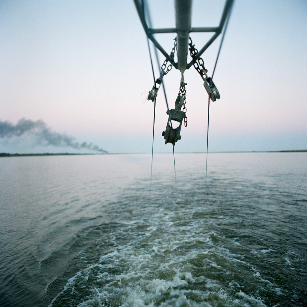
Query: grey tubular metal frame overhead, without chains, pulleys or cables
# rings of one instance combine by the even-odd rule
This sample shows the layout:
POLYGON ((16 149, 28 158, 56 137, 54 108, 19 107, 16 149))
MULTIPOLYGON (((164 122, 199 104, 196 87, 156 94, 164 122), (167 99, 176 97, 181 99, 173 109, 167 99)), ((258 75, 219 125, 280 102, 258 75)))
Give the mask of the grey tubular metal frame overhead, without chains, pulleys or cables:
POLYGON ((145 14, 142 7, 142 0, 134 0, 138 15, 140 17, 141 23, 145 30, 147 37, 153 42, 157 49, 165 56, 165 58, 173 64, 176 69, 179 69, 181 73, 185 69, 189 69, 193 62, 200 58, 204 51, 215 41, 215 39, 220 35, 223 30, 225 21, 231 9, 234 0, 226 0, 223 14, 218 27, 191 27, 191 11, 192 11, 192 0, 175 0, 175 14, 176 14, 176 28, 162 28, 162 29, 152 29, 149 28, 145 20, 145 14), (194 59, 190 63, 187 63, 188 56, 188 40, 189 33, 191 32, 214 32, 212 37, 207 41, 207 43, 201 48, 194 59), (177 58, 178 62, 173 63, 173 59, 167 54, 163 47, 157 42, 153 37, 155 33, 177 33, 177 58))

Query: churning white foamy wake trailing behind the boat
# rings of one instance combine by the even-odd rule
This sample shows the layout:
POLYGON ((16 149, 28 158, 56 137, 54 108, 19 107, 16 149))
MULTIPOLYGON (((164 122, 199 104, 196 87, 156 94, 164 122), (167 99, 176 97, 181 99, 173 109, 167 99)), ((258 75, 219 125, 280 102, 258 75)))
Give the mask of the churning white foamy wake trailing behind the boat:
MULTIPOLYGON (((260 298, 245 294, 239 283, 232 281, 223 286, 219 279, 220 274, 228 277, 240 271, 247 274, 243 277, 247 281, 272 285, 243 255, 232 252, 237 248, 224 247, 237 247, 238 238, 229 239, 207 230, 202 219, 189 220, 187 224, 187 214, 191 212, 160 208, 150 219, 141 218, 117 228, 107 238, 108 243, 113 243, 110 250, 100 256, 98 263, 69 279, 63 292, 87 289, 90 295, 79 307, 266 306, 260 298), (122 238, 125 243, 120 245, 122 238), (204 270, 203 274, 198 274, 200 270, 204 270), (206 270, 210 274, 206 275, 206 270)), ((270 251, 273 250, 260 252, 270 251)))

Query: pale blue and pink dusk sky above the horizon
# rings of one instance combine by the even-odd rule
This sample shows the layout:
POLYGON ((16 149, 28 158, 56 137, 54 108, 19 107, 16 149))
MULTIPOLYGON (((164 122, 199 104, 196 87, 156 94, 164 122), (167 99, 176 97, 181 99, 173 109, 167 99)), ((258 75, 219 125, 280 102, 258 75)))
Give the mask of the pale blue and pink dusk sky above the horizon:
MULTIPOLYGON (((192 26, 217 26, 224 3, 194 0, 192 26)), ((148 5, 154 28, 175 26, 173 1, 148 5)), ((133 0, 2 0, 0 20, 0 152, 151 153, 153 75, 133 0)), ((211 35, 190 33, 198 50, 211 35)), ((155 38, 170 53, 175 36, 155 38)), ((209 76, 220 40, 202 55, 209 76)), ((221 98, 210 103, 208 151, 307 149, 306 68, 305 0, 236 0, 214 73, 221 98)), ((193 66, 184 77, 188 124, 174 149, 205 152, 208 94, 193 66)), ((175 68, 163 78, 170 108, 180 79, 175 68)), ((162 89, 156 105, 153 151, 171 153, 162 89)))

